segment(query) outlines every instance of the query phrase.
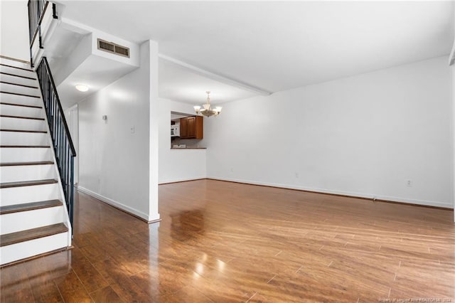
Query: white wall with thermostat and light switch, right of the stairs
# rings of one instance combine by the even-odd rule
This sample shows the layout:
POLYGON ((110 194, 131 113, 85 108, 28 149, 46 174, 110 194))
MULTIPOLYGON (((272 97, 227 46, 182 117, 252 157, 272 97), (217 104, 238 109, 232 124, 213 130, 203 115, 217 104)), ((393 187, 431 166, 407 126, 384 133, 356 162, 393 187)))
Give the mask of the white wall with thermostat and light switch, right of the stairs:
POLYGON ((146 220, 150 73, 147 41, 140 68, 79 103, 79 188, 146 220))

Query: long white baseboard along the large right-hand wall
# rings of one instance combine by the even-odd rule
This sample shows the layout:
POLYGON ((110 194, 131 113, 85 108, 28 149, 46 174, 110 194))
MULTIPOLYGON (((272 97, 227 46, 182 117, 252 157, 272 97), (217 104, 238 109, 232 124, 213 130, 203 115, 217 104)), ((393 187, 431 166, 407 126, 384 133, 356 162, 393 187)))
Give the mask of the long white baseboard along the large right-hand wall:
POLYGON ((376 200, 384 200, 384 201, 408 203, 408 204, 418 204, 418 205, 422 205, 422 206, 434 206, 434 207, 443 207, 443 208, 452 208, 452 209, 454 208, 454 206, 449 203, 442 203, 442 202, 437 202, 437 201, 424 201, 424 200, 417 200, 417 199, 410 199, 410 198, 398 198, 398 197, 393 197, 393 196, 378 196, 373 193, 355 193, 355 192, 349 192, 349 191, 333 191, 331 189, 326 189, 326 188, 290 186, 287 184, 273 184, 273 183, 265 183, 265 182, 242 180, 242 179, 223 178, 223 177, 208 176, 207 179, 213 179, 213 180, 219 180, 219 181, 230 181, 230 182, 237 182, 237 183, 242 183, 242 184, 252 184, 252 185, 260 185, 260 186, 272 186, 272 187, 279 187, 279 188, 296 189, 299 191, 311 191, 314 193, 331 193, 333 195, 351 196, 354 198, 368 198, 368 199, 372 199, 372 200, 373 200, 373 198, 376 198, 376 200))

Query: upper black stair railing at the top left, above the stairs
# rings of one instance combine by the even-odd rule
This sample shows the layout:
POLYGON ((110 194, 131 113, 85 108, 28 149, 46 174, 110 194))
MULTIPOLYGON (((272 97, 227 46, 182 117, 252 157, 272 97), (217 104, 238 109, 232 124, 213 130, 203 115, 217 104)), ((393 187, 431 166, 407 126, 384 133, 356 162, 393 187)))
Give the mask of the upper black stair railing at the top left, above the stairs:
MULTIPOLYGON (((43 41, 41 39, 41 22, 45 10, 49 5, 46 0, 28 0, 28 38, 30 41, 30 65, 33 68, 33 43, 38 37, 39 48, 43 48, 43 41)), ((55 4, 52 4, 52 16, 57 18, 55 13, 55 4)))

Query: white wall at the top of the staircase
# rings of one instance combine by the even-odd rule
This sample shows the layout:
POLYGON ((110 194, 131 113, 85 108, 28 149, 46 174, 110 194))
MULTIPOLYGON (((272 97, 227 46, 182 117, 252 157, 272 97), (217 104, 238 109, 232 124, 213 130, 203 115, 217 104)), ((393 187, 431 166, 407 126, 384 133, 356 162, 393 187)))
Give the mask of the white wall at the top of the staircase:
POLYGON ((0 55, 30 60, 27 1, 0 1, 0 55))

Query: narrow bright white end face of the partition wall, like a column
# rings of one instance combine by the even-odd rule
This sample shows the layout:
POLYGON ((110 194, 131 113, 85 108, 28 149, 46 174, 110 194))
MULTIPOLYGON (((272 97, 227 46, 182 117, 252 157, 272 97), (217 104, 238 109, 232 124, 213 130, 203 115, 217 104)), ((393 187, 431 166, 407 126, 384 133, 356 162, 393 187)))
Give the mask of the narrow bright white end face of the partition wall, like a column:
POLYGON ((158 212, 158 43, 149 41, 150 48, 150 112, 149 112, 149 222, 160 220, 158 212))

